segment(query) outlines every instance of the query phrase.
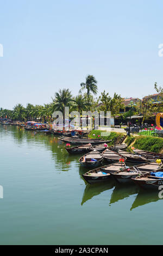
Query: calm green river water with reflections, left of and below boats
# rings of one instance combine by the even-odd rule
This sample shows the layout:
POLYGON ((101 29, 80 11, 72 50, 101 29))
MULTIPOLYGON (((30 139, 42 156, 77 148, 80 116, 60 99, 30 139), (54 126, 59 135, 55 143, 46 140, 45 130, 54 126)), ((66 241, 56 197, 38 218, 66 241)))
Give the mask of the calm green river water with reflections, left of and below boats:
POLYGON ((1 245, 162 244, 163 201, 114 181, 86 185, 57 137, 0 125, 1 245))

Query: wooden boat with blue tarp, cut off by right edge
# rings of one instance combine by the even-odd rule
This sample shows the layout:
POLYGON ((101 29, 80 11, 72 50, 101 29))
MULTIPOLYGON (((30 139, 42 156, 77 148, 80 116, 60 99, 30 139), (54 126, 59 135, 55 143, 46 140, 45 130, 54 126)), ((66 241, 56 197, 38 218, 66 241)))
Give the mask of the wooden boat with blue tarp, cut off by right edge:
POLYGON ((140 187, 158 190, 159 186, 163 185, 163 169, 143 173, 140 176, 131 178, 131 180, 140 187))

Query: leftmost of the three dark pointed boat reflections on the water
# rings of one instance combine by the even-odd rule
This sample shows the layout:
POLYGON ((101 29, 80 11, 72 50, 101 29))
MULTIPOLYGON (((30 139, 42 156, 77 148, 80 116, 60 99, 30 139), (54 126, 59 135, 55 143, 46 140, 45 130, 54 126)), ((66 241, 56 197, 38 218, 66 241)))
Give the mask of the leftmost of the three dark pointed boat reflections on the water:
POLYGON ((102 182, 93 185, 86 184, 81 205, 83 205, 87 200, 90 200, 93 197, 98 196, 105 190, 111 190, 114 186, 115 181, 112 179, 109 182, 102 182))

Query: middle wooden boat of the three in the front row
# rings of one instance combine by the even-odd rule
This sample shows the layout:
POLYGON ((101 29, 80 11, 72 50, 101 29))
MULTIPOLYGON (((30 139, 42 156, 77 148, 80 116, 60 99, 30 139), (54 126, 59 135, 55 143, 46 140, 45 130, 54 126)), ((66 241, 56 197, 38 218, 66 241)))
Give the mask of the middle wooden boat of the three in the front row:
POLYGON ((137 166, 129 167, 118 172, 111 173, 111 176, 118 182, 132 182, 131 178, 136 178, 136 176, 151 172, 153 170, 158 170, 162 167, 162 164, 159 166, 156 162, 142 163, 137 166))

